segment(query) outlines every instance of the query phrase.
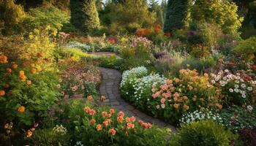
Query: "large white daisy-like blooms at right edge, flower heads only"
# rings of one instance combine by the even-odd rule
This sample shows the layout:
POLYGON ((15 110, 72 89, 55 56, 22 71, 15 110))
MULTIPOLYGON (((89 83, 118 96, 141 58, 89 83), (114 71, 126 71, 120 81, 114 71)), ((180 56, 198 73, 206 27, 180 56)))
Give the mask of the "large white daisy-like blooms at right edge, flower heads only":
POLYGON ((253 91, 256 85, 256 81, 245 81, 241 78, 241 74, 232 74, 228 69, 225 71, 220 71, 218 74, 210 74, 213 78, 211 80, 212 84, 219 84, 223 88, 228 85, 233 85, 233 87, 228 88, 230 93, 240 93, 242 98, 246 98, 247 91, 253 91))

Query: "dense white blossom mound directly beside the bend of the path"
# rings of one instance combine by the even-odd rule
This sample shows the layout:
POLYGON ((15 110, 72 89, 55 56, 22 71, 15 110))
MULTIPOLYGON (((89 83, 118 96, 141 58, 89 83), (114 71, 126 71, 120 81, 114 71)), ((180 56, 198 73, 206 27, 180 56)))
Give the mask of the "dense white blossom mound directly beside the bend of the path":
POLYGON ((147 74, 148 69, 146 69, 145 66, 139 66, 135 67, 131 70, 124 71, 122 74, 122 80, 121 80, 121 87, 127 83, 127 81, 132 82, 132 80, 129 80, 129 77, 132 75, 141 75, 141 74, 147 74))

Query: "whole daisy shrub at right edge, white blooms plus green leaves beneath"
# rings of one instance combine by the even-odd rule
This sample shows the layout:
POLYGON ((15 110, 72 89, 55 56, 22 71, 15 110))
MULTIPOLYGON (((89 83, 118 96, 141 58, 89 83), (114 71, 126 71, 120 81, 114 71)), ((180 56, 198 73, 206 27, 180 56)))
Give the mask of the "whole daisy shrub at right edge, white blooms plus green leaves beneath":
POLYGON ((245 105, 252 103, 255 95, 256 81, 243 77, 241 74, 233 74, 229 70, 211 74, 211 83, 222 89, 227 105, 245 105))

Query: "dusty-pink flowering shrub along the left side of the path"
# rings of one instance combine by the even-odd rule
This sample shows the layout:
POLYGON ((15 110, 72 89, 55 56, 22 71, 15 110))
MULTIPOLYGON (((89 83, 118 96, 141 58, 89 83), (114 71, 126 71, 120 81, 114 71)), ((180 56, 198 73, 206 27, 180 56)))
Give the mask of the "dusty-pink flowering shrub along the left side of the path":
POLYGON ((92 66, 89 68, 74 66, 61 72, 61 79, 59 80, 59 84, 56 85, 61 91, 61 94, 73 96, 84 93, 87 90, 85 88, 86 82, 98 83, 100 81, 99 70, 92 66))

